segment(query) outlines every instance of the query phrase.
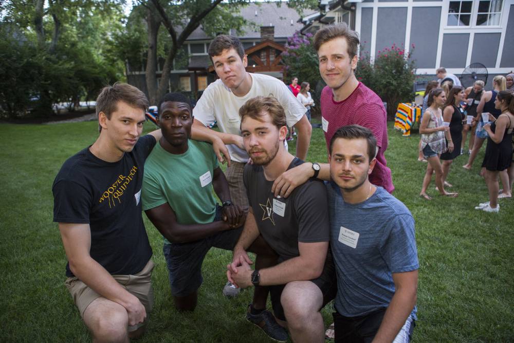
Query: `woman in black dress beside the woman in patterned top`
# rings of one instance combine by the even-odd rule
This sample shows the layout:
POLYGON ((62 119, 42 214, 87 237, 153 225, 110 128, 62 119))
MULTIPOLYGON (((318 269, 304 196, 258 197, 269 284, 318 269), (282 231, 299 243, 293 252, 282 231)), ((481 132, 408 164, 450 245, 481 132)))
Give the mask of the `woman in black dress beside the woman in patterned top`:
POLYGON ((453 159, 461 154, 462 121, 465 118, 461 101, 465 96, 463 87, 453 86, 443 105, 443 120, 450 124, 450 131, 445 132, 448 150, 440 156, 440 159, 443 161, 443 183, 445 187, 452 187, 452 185, 446 182, 446 177, 450 172, 453 159))

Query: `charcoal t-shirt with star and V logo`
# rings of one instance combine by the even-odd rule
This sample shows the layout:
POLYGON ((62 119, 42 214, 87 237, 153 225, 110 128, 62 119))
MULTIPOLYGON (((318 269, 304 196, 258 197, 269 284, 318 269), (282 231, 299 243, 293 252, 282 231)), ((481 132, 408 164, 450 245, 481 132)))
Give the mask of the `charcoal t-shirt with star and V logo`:
MULTIPOLYGON (((287 169, 302 163, 295 157, 287 169)), ((262 166, 247 164, 243 179, 259 231, 281 261, 300 255, 298 242, 329 241, 327 196, 322 182, 308 180, 283 198, 271 192, 273 182, 266 180, 262 166)))

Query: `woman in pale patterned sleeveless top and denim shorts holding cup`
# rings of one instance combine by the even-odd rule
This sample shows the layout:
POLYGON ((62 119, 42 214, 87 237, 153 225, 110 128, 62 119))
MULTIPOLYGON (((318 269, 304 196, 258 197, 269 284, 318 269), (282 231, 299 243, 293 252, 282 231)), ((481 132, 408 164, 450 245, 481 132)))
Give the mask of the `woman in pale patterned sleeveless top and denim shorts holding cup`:
POLYGON ((432 200, 427 194, 428 186, 432 180, 432 174, 435 172, 435 185, 441 195, 455 197, 457 193, 448 193, 445 191, 443 182, 443 167, 439 159, 439 155, 446 151, 445 133, 450 131, 449 126, 443 125, 443 113, 441 106, 446 101, 446 94, 442 88, 435 88, 427 95, 427 110, 421 118, 419 124, 419 133, 421 134, 420 151, 428 160, 427 171, 423 178, 423 186, 421 186, 420 197, 426 200, 432 200))

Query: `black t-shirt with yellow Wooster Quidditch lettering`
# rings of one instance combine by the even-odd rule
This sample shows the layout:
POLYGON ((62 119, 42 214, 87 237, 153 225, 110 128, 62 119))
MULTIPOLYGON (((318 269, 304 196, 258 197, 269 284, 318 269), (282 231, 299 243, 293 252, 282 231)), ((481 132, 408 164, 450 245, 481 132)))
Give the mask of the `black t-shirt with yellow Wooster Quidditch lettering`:
MULTIPOLYGON (((53 221, 89 224, 89 254, 113 275, 136 274, 152 257, 140 196, 144 160, 155 143, 143 136, 114 163, 86 148, 66 160, 53 182, 53 221)), ((66 275, 74 276, 69 263, 66 275)))

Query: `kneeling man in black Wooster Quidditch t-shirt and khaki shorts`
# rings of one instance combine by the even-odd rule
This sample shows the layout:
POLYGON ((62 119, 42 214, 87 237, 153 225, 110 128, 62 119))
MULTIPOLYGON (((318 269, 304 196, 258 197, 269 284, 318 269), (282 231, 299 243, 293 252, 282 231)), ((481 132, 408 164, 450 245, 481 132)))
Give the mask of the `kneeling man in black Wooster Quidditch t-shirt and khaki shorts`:
POLYGON ((117 83, 96 102, 100 136, 54 180, 53 221, 68 258, 65 284, 94 340, 126 342, 152 308, 152 249, 141 216, 146 156, 160 130, 139 139, 145 95, 117 83))

